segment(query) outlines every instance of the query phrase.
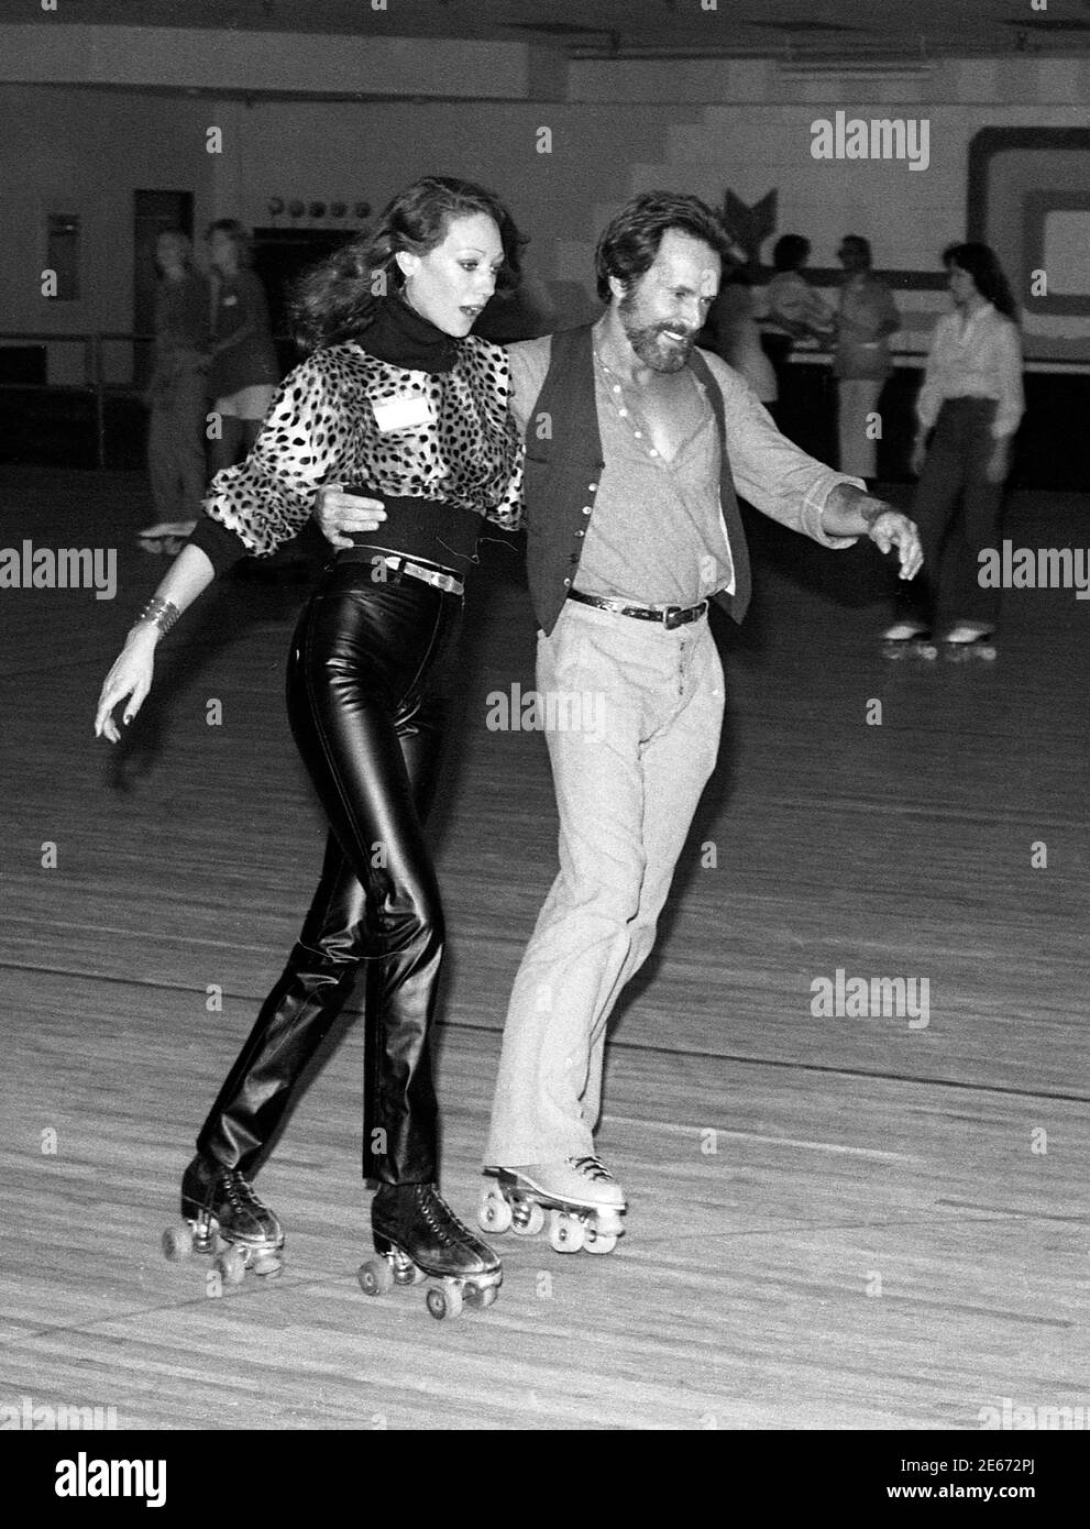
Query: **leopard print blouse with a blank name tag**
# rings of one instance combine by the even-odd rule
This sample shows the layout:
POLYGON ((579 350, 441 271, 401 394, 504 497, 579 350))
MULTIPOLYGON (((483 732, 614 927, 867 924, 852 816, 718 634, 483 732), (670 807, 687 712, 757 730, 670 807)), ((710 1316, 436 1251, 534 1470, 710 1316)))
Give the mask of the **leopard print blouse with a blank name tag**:
POLYGON ((316 350, 284 378, 246 462, 216 474, 205 514, 254 557, 303 529, 326 482, 442 500, 515 531, 523 448, 508 401, 508 353, 478 335, 456 341, 449 372, 411 372, 353 341, 316 350), (379 428, 375 404, 427 394, 431 420, 379 428))

